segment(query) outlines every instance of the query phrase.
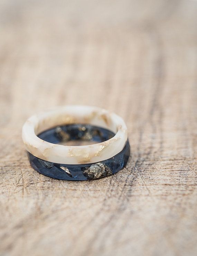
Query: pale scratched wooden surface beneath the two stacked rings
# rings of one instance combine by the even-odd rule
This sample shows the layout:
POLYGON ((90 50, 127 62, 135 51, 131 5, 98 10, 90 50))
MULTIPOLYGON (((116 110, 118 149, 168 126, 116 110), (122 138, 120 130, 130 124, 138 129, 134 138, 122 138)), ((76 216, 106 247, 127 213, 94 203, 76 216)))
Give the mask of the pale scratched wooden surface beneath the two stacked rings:
POLYGON ((0 3, 0 255, 197 254, 197 2, 0 3), (119 173, 59 181, 33 170, 26 118, 51 106, 125 119, 119 173))

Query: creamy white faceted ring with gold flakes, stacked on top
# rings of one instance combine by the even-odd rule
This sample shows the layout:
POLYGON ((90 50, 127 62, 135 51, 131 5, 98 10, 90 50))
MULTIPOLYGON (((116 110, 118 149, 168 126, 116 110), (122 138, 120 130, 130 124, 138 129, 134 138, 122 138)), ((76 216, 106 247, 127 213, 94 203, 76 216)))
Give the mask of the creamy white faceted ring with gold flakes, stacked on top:
POLYGON ((22 139, 27 151, 40 159, 60 164, 89 164, 109 159, 122 151, 127 141, 127 128, 120 116, 105 109, 65 106, 27 119, 22 127, 22 139), (73 123, 100 126, 113 131, 115 136, 88 146, 64 146, 37 137, 55 126, 73 123))

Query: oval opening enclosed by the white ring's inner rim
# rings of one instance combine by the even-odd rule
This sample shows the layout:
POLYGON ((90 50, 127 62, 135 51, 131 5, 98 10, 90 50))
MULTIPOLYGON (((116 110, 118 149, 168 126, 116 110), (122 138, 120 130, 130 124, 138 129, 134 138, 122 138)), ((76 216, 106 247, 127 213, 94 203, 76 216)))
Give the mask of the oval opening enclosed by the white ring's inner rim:
POLYGON ((66 146, 85 146, 100 143, 114 137, 115 133, 89 124, 56 126, 38 135, 40 139, 66 146))

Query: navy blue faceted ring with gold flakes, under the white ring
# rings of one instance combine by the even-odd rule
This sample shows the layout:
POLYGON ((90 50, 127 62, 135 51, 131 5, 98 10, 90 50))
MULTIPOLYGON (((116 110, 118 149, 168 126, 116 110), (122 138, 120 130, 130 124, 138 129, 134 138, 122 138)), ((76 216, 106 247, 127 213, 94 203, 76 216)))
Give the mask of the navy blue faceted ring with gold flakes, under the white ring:
MULTIPOLYGON (((115 134, 107 129, 87 125, 69 124, 58 126, 38 135, 39 138, 51 142, 60 143, 69 140, 90 140, 103 142, 112 138, 115 134)), ((109 176, 120 171, 127 163, 130 155, 129 141, 123 150, 117 155, 93 164, 57 164, 47 162, 28 152, 31 166, 39 173, 60 180, 94 180, 109 176)))

